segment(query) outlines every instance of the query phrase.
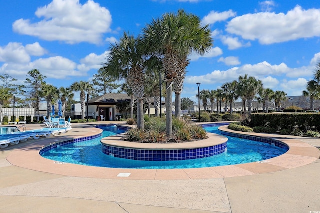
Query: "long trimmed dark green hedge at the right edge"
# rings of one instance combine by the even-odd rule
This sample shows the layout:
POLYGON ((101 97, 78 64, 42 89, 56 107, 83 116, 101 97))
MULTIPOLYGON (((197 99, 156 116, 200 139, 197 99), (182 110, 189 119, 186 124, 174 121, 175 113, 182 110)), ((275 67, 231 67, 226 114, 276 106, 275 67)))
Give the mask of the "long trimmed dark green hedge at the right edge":
POLYGON ((320 113, 257 113, 251 115, 250 126, 276 130, 320 130, 320 113))

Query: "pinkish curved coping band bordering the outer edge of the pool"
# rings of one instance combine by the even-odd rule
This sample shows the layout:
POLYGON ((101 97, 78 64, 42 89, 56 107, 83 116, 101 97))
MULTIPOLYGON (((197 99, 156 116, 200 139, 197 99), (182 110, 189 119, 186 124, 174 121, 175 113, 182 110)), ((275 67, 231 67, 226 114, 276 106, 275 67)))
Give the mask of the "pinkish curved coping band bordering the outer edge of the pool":
MULTIPOLYGON (((239 133, 220 127, 223 131, 239 133)), ((43 158, 39 151, 52 143, 65 141, 65 139, 87 137, 101 133, 101 129, 95 127, 76 127, 69 134, 53 136, 48 139, 35 139, 19 149, 13 150, 7 156, 7 161, 12 165, 42 171, 47 173, 106 179, 135 179, 135 180, 173 180, 173 179, 208 179, 224 178, 262 173, 276 172, 304 166, 316 161, 320 156, 320 150, 299 140, 301 137, 264 134, 264 133, 240 133, 257 137, 268 137, 281 141, 289 146, 289 150, 277 157, 260 162, 235 164, 217 167, 188 168, 188 169, 121 169, 85 166, 71 163, 62 163, 43 158)))

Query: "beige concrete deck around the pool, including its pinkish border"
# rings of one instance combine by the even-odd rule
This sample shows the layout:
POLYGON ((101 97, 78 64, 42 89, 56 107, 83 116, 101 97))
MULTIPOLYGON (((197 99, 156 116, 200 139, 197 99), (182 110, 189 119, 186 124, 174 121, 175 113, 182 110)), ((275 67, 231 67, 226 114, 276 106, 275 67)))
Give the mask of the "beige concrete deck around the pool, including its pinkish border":
MULTIPOLYGON (((109 122, 96 122, 102 123, 109 122)), ((62 135, 0 149, 0 212, 320 211, 320 151, 314 148, 320 139, 268 135, 281 138, 290 150, 258 163, 194 169, 89 167, 37 154, 62 137, 99 131, 91 126, 73 123, 72 131, 62 135)))

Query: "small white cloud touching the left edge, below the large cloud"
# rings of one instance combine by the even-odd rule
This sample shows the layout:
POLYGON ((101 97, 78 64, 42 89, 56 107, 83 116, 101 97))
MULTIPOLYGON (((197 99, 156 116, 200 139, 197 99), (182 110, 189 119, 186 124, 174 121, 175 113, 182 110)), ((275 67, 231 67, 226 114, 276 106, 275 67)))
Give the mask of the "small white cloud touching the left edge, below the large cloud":
POLYGON ((27 63, 31 59, 27 48, 21 43, 10 42, 4 48, 0 46, 0 61, 6 63, 27 63))

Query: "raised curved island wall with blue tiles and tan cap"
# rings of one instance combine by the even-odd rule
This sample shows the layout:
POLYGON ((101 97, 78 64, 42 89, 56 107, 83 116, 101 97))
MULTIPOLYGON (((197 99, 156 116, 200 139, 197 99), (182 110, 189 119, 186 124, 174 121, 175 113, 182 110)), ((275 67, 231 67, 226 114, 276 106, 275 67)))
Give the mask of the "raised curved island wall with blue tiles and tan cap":
POLYGON ((208 138, 182 143, 137 143, 121 140, 122 135, 101 139, 106 155, 140 161, 174 161, 205 158, 225 152, 227 138, 207 133, 208 138))

